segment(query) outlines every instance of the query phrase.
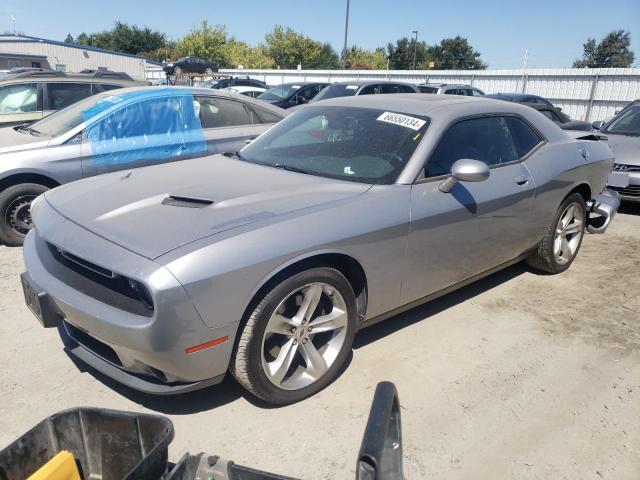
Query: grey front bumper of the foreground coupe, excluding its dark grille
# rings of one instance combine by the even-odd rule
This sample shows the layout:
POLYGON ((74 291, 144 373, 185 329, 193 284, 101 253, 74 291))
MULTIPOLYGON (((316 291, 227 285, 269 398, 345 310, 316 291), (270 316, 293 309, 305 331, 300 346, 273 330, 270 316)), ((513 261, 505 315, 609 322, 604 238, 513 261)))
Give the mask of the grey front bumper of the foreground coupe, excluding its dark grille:
POLYGON ((59 319, 45 326, 59 327, 69 353, 120 383, 153 394, 189 391, 222 380, 238 322, 206 326, 182 285, 164 267, 69 222, 47 205, 38 208, 37 217, 38 231, 30 232, 24 243, 27 275, 59 319), (90 279, 78 279, 56 264, 47 242, 145 283, 153 311, 133 313, 97 295, 99 286, 90 279), (186 352, 222 337, 227 341, 215 347, 186 352))

